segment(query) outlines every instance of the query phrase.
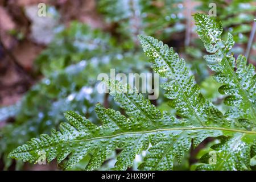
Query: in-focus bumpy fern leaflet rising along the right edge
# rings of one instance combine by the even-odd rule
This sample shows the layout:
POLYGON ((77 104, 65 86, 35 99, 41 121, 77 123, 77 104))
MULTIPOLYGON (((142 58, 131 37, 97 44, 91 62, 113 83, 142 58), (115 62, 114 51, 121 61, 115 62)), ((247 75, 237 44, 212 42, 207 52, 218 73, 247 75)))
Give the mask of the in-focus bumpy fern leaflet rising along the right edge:
POLYGON ((225 114, 229 118, 256 121, 256 76, 255 67, 246 65, 245 56, 237 60, 229 50, 234 45, 232 34, 226 41, 221 39, 221 23, 214 22, 208 15, 195 15, 197 32, 204 42, 207 52, 212 53, 204 58, 209 67, 217 72, 215 80, 222 85, 221 94, 225 94, 224 103, 232 106, 225 114))

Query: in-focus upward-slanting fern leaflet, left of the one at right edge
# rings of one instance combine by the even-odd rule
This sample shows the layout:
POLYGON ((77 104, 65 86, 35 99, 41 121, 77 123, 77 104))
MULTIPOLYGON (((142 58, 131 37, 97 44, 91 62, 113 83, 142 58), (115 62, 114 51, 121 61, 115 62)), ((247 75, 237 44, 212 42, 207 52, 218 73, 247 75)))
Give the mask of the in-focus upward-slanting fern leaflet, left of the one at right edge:
POLYGON ((177 109, 177 115, 196 121, 193 125, 206 125, 210 121, 224 123, 222 113, 200 93, 195 77, 189 72, 184 59, 174 49, 151 36, 139 36, 143 51, 153 63, 152 68, 170 82, 163 84, 165 96, 171 99, 170 106, 177 109))

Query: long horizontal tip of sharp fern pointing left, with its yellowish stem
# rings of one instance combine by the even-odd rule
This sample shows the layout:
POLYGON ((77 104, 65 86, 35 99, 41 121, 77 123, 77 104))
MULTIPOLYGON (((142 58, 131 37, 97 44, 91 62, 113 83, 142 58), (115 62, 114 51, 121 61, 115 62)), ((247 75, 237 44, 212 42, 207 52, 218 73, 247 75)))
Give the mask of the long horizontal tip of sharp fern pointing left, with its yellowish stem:
POLYGON ((102 125, 96 126, 81 115, 69 111, 65 113, 69 123, 61 123, 60 131, 52 130, 51 136, 43 134, 40 139, 31 139, 11 152, 9 157, 36 162, 40 151, 44 151, 48 162, 57 158, 60 163, 69 158, 65 163, 65 169, 68 169, 91 154, 86 169, 97 169, 115 148, 122 148, 113 169, 125 170, 132 166, 136 154, 148 150, 139 168, 167 170, 172 169, 175 158, 181 161, 185 152, 191 148, 192 139, 195 147, 207 137, 232 136, 233 133, 256 134, 224 127, 195 127, 185 119, 177 119, 167 112, 161 113, 137 92, 123 93, 127 86, 119 82, 112 85, 110 89, 115 89, 110 93, 115 100, 120 101, 123 109, 129 110, 127 114, 131 117, 126 118, 119 111, 105 109, 97 104, 96 113, 102 125))

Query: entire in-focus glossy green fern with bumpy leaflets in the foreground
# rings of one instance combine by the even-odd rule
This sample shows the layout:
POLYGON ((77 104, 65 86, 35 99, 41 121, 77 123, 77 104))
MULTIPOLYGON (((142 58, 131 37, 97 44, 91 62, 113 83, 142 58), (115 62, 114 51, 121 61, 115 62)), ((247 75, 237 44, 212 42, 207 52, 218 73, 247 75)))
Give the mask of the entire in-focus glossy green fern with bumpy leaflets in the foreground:
POLYGON ((152 68, 167 78, 162 86, 179 119, 168 111, 156 109, 129 85, 110 80, 106 82, 110 95, 126 111, 127 117, 97 104, 95 111, 102 122, 98 126, 68 111, 65 117, 69 123, 61 123, 60 131, 52 130, 51 135, 32 138, 11 152, 9 157, 36 162, 40 151, 44 151, 48 162, 56 158, 60 163, 68 158, 63 162, 64 169, 68 169, 85 156, 90 156, 85 169, 92 170, 99 168, 115 149, 121 148, 112 168, 114 170, 133 166, 135 155, 142 151, 147 152, 139 169, 171 170, 175 160, 181 162, 191 147, 198 146, 207 137, 217 137, 220 143, 211 147, 216 154, 216 163, 209 163, 211 156, 205 154, 196 169, 251 169, 256 154, 254 68, 247 66, 242 56, 236 61, 229 55, 233 37, 228 34, 228 40, 221 39, 221 23, 204 14, 196 14, 195 20, 201 40, 207 51, 212 53, 205 59, 217 72, 215 80, 225 84, 219 89, 228 95, 225 103, 230 109, 225 115, 204 98, 185 61, 172 48, 150 36, 141 35, 139 40, 153 63, 152 68), (234 110, 236 114, 232 113, 234 110))

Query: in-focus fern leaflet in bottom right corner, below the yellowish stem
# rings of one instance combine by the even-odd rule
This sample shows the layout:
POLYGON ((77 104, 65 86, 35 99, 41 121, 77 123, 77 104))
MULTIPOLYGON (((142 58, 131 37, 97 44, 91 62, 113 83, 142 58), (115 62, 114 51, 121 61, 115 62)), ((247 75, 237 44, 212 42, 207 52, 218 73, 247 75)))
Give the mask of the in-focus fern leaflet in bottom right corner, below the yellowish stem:
POLYGON ((205 162, 205 164, 199 165, 197 170, 241 171, 251 169, 250 160, 255 155, 255 137, 253 139, 250 135, 235 134, 231 138, 220 137, 220 140, 221 143, 212 147, 214 150, 212 154, 216 155, 216 161, 213 160, 209 164, 213 155, 205 154, 201 159, 201 162, 205 162))

